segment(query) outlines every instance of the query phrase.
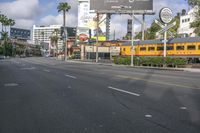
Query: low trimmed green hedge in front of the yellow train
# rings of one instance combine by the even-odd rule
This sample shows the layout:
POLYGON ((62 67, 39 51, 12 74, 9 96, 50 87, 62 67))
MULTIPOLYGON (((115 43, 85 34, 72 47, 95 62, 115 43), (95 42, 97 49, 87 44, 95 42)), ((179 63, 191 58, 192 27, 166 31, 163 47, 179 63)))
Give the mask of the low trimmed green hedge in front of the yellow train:
MULTIPOLYGON (((136 66, 154 66, 154 67, 178 67, 187 64, 187 59, 178 57, 134 57, 136 66)), ((130 65, 131 57, 115 57, 115 64, 130 65)))

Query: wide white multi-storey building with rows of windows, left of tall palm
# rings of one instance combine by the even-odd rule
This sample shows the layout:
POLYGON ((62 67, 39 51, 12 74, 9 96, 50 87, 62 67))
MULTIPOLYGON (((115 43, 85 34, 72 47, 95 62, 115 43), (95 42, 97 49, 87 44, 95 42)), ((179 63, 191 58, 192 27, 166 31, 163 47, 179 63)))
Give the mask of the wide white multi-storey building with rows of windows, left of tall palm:
MULTIPOLYGON (((60 30, 61 25, 50 25, 50 26, 39 26, 33 25, 33 44, 40 44, 41 42, 48 43, 50 46, 50 37, 55 35, 55 29, 60 30)), ((60 36, 60 32, 58 32, 60 36)), ((63 47, 63 41, 58 40, 58 50, 61 50, 63 47)))

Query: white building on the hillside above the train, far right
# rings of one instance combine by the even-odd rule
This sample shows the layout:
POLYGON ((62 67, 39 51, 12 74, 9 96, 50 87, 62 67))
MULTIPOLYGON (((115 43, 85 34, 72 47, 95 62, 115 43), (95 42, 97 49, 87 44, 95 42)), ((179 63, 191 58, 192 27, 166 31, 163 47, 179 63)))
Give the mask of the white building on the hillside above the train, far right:
POLYGON ((190 23, 194 22, 196 11, 197 11, 197 7, 192 8, 186 14, 181 14, 180 27, 178 29, 178 34, 185 34, 191 37, 195 36, 194 29, 190 28, 190 23))

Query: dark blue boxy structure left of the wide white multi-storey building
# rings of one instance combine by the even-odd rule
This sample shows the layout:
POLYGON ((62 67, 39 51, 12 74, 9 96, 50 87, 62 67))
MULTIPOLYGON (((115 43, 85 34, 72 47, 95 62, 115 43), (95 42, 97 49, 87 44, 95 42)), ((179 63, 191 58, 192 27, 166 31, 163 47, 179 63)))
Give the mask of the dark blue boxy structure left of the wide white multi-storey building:
POLYGON ((31 31, 28 29, 11 27, 9 36, 11 39, 27 42, 27 40, 31 39, 31 31))

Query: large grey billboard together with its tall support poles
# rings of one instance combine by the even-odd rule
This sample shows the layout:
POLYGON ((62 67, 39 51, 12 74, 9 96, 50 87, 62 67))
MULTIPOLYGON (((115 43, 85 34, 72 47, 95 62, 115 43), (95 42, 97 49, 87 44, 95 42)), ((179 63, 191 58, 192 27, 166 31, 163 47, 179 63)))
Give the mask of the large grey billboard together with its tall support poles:
MULTIPOLYGON (((154 15, 153 0, 90 0, 90 10, 94 10, 97 13, 97 19, 99 14, 131 14, 132 20, 135 20, 135 15, 143 15, 142 27, 144 30, 144 16, 154 15)), ((132 21, 134 26, 134 21, 132 21)), ((99 27, 99 21, 97 20, 97 29, 99 27)), ((132 28, 132 54, 131 54, 131 66, 133 66, 133 40, 134 40, 134 27, 132 28)), ((144 31, 143 31, 144 35, 144 31)), ((144 36, 143 36, 144 39, 144 36)), ((98 45, 98 30, 97 41, 98 45)), ((96 51, 96 62, 98 62, 98 49, 96 51)))

